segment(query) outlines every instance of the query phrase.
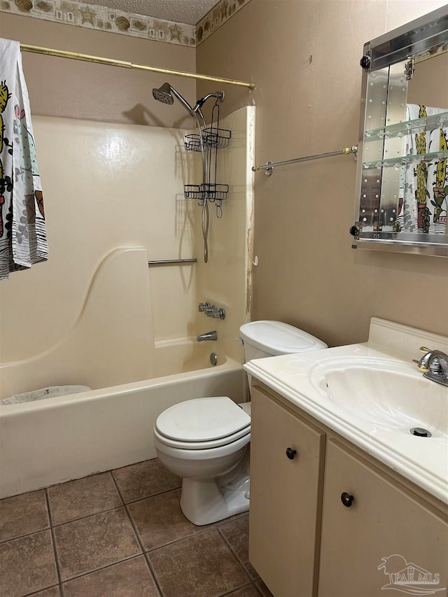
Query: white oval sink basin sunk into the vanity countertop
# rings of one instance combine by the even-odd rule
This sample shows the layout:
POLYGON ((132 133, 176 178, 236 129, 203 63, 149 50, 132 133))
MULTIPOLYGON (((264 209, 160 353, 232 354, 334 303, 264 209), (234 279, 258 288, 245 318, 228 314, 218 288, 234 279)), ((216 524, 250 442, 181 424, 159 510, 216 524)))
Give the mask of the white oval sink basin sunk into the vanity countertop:
POLYGON ((448 436, 448 388, 407 363, 330 359, 309 373, 311 384, 334 405, 385 428, 425 428, 448 436))

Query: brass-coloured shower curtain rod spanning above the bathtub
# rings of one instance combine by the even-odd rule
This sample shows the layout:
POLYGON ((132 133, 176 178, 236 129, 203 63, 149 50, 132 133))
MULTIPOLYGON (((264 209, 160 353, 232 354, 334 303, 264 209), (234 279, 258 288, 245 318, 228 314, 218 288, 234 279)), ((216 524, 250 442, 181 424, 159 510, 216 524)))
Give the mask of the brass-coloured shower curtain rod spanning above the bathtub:
POLYGON ((20 49, 23 52, 34 52, 34 54, 46 54, 48 56, 57 56, 59 58, 71 58, 73 60, 83 60, 84 62, 96 62, 97 64, 109 64, 109 66, 122 66, 124 69, 136 69, 137 71, 150 71, 152 73, 163 73, 165 75, 172 75, 176 77, 186 77, 190 79, 200 79, 215 81, 215 83, 226 83, 227 85, 239 85, 239 87, 247 87, 248 89, 255 89, 253 83, 246 81, 239 81, 233 79, 225 79, 221 77, 212 77, 209 75, 200 75, 197 73, 186 73, 183 71, 173 71, 172 69, 159 69, 157 66, 146 66, 145 64, 134 64, 126 62, 125 60, 114 60, 111 58, 102 58, 99 56, 90 56, 88 54, 78 54, 77 52, 64 52, 64 50, 52 50, 52 48, 41 48, 38 45, 20 44, 20 49))

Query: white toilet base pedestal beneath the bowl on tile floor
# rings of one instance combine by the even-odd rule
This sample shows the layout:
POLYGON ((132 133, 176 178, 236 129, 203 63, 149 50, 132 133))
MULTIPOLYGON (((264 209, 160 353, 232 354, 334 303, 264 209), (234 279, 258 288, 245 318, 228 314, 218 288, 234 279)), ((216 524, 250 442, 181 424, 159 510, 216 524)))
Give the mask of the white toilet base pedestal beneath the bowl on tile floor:
POLYGON ((181 510, 197 526, 249 509, 249 451, 239 465, 216 479, 183 479, 181 510))

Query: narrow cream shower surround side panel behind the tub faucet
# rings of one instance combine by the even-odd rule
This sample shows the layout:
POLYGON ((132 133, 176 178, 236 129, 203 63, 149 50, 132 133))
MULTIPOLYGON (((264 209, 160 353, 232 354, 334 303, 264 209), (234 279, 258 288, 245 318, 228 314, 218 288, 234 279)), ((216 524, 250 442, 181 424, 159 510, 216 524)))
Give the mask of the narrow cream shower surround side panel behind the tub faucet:
MULTIPOLYGON (((225 100, 224 100, 225 104, 225 100)), ((195 218, 195 254, 197 288, 200 300, 225 309, 225 321, 198 314, 201 332, 218 332, 220 356, 242 362, 244 351, 236 342, 239 326, 251 317, 253 269, 253 174, 255 108, 240 108, 223 118, 220 128, 230 129, 227 148, 218 150, 217 182, 229 185, 228 199, 223 201, 222 218, 216 217, 214 203, 209 203, 209 262, 202 258, 203 240, 200 218, 195 218)), ((198 156, 199 157, 199 156, 198 156)), ((199 180, 200 160, 195 162, 199 180)), ((200 212, 200 207, 197 207, 200 212)), ((212 343, 210 343, 212 346, 212 343)))

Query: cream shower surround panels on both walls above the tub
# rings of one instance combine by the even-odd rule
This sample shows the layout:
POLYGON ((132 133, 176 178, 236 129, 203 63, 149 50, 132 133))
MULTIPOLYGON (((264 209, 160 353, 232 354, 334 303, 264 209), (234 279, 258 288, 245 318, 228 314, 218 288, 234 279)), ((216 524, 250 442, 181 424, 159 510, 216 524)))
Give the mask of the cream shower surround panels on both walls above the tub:
MULTIPOLYGON (((252 157, 248 156, 246 134, 251 110, 243 108, 224 123, 234 129, 220 171, 230 183, 230 192, 221 220, 216 220, 211 206, 211 260, 207 265, 202 263, 200 248, 200 208, 183 197, 184 183, 194 181, 195 176, 194 156, 183 148, 187 131, 34 118, 47 199, 50 260, 36 271, 14 274, 0 286, 3 313, 8 313, 0 322, 0 363, 32 361, 55 351, 73 335, 94 273, 107 255, 120 247, 142 247, 148 260, 197 257, 198 263, 150 267, 147 293, 144 280, 139 288, 140 294, 148 294, 146 311, 142 304, 127 308, 134 314, 120 313, 119 302, 102 297, 98 307, 101 319, 109 320, 114 330, 123 328, 117 337, 123 338, 120 344, 126 344, 130 358, 124 358, 120 366, 114 355, 123 351, 123 345, 113 346, 105 337, 104 344, 99 339, 94 363, 87 363, 88 373, 83 363, 86 351, 80 345, 75 351, 77 358, 66 371, 60 367, 48 371, 45 385, 82 383, 102 388, 170 374, 179 367, 174 366, 173 371, 167 351, 187 346, 184 360, 188 361, 189 353, 197 360, 195 338, 207 331, 205 328, 216 325, 218 337, 235 339, 248 316, 246 238, 251 195, 246 195, 246 171, 252 157), (220 303, 228 318, 217 321, 202 316, 198 321, 200 300, 220 303), (133 316, 139 317, 134 321, 136 330, 144 330, 138 342, 132 337, 134 332, 127 335, 133 316)), ((250 142, 249 149, 251 146, 250 142)), ((137 276, 123 265, 116 276, 123 296, 126 288, 135 292, 137 276)), ((112 286, 110 292, 114 292, 112 286)), ((89 333, 97 342, 101 328, 95 318, 89 333)), ((85 342, 85 336, 79 342, 85 342)), ((231 356, 242 362, 235 341, 222 342, 219 351, 217 346, 209 343, 204 354, 213 349, 221 353, 222 360, 231 356)), ((45 363, 50 362, 46 358, 45 363)), ((37 389, 32 377, 16 377, 17 387, 3 388, 3 394, 37 389)), ((38 379, 43 377, 41 374, 38 379)))

